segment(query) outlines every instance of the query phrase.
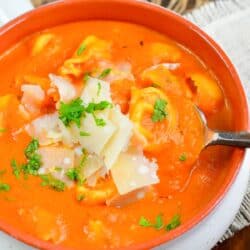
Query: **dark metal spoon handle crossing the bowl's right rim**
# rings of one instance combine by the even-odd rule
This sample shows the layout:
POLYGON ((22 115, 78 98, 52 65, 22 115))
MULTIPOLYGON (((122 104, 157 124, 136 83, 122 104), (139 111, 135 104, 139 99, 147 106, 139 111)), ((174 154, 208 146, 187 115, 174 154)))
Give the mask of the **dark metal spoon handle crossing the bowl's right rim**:
POLYGON ((238 147, 250 147, 249 132, 220 132, 215 131, 209 145, 226 145, 238 147))

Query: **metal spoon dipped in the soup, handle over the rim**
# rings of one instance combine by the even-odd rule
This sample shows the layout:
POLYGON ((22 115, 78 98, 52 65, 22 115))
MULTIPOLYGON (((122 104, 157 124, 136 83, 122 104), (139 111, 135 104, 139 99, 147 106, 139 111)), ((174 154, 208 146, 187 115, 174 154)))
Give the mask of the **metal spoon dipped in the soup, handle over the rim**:
POLYGON ((227 131, 214 131, 207 127, 207 119, 204 113, 196 107, 200 119, 204 125, 205 132, 205 145, 208 147, 211 145, 226 145, 236 147, 250 147, 250 133, 246 131, 242 132, 227 132, 227 131))

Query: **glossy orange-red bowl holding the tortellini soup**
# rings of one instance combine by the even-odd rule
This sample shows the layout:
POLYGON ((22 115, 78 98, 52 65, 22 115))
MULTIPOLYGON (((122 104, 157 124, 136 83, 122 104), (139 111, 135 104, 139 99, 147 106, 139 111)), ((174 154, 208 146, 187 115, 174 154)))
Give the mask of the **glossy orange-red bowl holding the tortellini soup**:
MULTIPOLYGON (((135 0, 64 0, 35 9, 0 28, 0 54, 33 32, 67 22, 90 19, 117 20, 137 23, 166 34, 168 37, 189 48, 215 73, 223 85, 235 119, 235 130, 248 129, 248 106, 240 79, 223 50, 201 29, 162 7, 135 0)), ((245 151, 235 149, 228 174, 217 195, 194 216, 174 231, 131 249, 149 249, 172 240, 201 222, 221 201, 233 184, 241 167, 245 151)), ((0 221, 1 230, 13 237, 42 249, 64 249, 41 241, 0 221)))

